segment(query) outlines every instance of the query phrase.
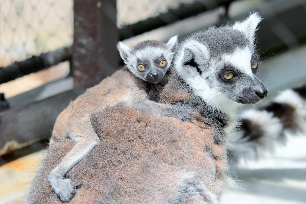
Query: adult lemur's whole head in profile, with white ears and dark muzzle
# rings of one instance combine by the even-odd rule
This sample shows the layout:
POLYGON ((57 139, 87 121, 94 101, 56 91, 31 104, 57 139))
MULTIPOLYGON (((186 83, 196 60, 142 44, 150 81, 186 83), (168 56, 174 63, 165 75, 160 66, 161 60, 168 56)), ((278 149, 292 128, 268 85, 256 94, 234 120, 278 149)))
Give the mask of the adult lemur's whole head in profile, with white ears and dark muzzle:
POLYGON ((178 49, 177 73, 216 108, 263 100, 267 90, 255 76, 259 67, 255 32, 260 21, 259 14, 253 13, 232 26, 192 34, 178 49))

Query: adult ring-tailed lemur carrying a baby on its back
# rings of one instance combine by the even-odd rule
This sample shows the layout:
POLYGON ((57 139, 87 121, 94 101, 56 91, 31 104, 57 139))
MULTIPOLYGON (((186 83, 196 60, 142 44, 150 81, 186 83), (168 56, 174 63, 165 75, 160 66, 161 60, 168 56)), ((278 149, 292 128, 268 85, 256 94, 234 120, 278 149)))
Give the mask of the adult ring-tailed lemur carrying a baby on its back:
MULTIPOLYGON (((267 95, 254 75, 260 20, 255 13, 233 26, 192 34, 178 47, 162 83, 142 87, 156 102, 193 106, 192 123, 144 113, 124 100, 91 113, 92 128, 101 140, 65 175, 77 188, 70 202, 217 203, 226 184, 226 137, 236 126, 235 110, 267 95)), ((113 78, 129 75, 121 73, 113 78)), ((101 84, 111 84, 106 82, 110 80, 101 84)), ((60 202, 47 174, 72 147, 69 138, 50 145, 28 203, 60 202)))

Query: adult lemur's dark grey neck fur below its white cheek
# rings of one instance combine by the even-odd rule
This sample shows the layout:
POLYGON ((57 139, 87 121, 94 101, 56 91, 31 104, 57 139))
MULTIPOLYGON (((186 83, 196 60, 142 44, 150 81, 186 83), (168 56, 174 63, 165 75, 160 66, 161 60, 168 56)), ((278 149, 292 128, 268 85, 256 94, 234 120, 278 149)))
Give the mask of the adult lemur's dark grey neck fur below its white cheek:
MULTIPOLYGON (((199 95, 192 86, 180 77, 174 69, 169 69, 162 82, 158 84, 147 83, 148 98, 153 101, 174 104, 176 102, 186 102, 195 106, 204 118, 218 129, 216 140, 222 140, 233 127, 236 126, 233 120, 233 113, 226 112, 211 104, 211 100, 199 95)), ((224 104, 226 106, 226 104, 224 104)))

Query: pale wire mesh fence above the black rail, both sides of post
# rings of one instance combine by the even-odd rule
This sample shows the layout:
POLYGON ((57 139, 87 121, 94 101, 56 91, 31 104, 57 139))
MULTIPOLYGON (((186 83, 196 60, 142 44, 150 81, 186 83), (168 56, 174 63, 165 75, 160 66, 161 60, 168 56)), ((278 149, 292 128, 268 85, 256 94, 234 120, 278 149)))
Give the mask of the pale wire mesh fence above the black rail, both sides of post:
MULTIPOLYGON (((118 0, 118 28, 196 0, 118 0)), ((73 42, 73 1, 2 0, 0 66, 73 42)))

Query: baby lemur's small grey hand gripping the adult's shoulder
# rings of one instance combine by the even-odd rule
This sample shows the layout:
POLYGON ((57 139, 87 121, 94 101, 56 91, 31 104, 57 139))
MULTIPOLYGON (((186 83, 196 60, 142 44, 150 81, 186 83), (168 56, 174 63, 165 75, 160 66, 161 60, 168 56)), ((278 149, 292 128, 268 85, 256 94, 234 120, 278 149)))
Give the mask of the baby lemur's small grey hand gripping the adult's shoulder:
POLYGON ((170 117, 177 118, 184 122, 189 122, 189 119, 194 118, 192 112, 194 109, 190 105, 181 105, 181 103, 176 103, 172 106, 172 113, 170 113, 170 117))

